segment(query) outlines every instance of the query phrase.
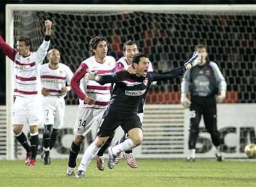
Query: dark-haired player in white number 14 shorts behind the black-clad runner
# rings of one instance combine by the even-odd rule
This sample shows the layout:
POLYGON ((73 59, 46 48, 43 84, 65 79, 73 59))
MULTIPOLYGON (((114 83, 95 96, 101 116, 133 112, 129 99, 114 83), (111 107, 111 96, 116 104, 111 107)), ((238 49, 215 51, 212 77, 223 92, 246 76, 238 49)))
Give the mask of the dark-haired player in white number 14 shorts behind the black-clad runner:
MULTIPOLYGON (((110 100, 111 83, 104 85, 96 81, 85 81, 87 70, 97 71, 98 74, 113 73, 116 60, 107 55, 108 41, 102 36, 92 38, 89 43, 92 57, 84 60, 71 80, 71 87, 80 98, 80 105, 74 127, 75 138, 70 146, 69 163, 67 175, 74 175, 77 155, 80 145, 88 132, 96 125, 100 125, 100 120, 108 107, 110 100)), ((103 157, 101 163, 104 164, 103 157)), ((104 168, 102 168, 104 170, 104 168)))

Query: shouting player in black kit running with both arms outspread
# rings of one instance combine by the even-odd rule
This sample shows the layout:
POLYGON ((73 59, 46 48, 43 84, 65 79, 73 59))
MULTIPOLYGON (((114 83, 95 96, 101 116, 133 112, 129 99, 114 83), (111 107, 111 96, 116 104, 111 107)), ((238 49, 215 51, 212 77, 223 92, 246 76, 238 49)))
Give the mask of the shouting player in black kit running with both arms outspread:
POLYGON ((150 86, 152 81, 173 79, 181 76, 184 71, 192 68, 197 63, 198 55, 194 54, 184 66, 176 68, 169 73, 156 74, 148 72, 149 59, 147 55, 136 54, 132 60, 136 74, 130 74, 128 71, 119 71, 111 75, 99 76, 96 73, 88 72, 87 78, 89 80, 95 80, 100 82, 100 84, 115 82, 116 86, 114 87, 109 107, 101 120, 98 136, 83 154, 75 177, 85 177, 85 170, 88 164, 98 153, 101 146, 108 140, 109 135, 119 125, 121 125, 124 132, 129 134, 129 138, 118 145, 108 148, 109 169, 113 169, 117 154, 139 146, 143 141, 143 130, 137 113, 147 87, 150 86))

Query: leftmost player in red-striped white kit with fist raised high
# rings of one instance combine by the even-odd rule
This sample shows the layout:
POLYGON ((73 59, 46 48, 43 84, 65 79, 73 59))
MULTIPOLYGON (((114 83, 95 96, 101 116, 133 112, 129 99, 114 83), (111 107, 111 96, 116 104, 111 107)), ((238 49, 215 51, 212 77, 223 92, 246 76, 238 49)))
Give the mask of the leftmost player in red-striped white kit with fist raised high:
POLYGON ((49 48, 51 26, 51 21, 46 20, 45 39, 36 52, 32 51, 30 38, 20 37, 17 49, 12 49, 0 36, 1 51, 14 62, 12 127, 15 137, 27 152, 25 164, 28 166, 36 164, 38 125, 42 122, 43 114, 39 70, 49 48), (30 127, 30 145, 22 132, 23 125, 30 127))

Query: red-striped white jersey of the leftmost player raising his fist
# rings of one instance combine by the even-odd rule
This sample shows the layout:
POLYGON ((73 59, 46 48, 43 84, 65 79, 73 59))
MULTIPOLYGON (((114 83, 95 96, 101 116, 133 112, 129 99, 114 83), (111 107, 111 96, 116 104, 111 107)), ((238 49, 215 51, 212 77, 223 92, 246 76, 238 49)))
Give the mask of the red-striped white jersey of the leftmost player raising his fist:
POLYGON ((14 95, 34 97, 41 94, 40 65, 46 57, 50 41, 43 41, 36 52, 27 57, 12 49, 0 36, 0 49, 14 62, 14 95))

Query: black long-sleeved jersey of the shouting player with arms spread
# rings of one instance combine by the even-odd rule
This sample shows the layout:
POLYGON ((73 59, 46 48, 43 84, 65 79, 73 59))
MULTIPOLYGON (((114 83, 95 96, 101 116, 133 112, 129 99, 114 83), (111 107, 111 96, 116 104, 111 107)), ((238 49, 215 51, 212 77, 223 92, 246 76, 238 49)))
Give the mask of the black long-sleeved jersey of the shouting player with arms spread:
POLYGON ((186 68, 180 67, 164 74, 148 72, 146 78, 129 74, 127 71, 119 71, 111 75, 100 76, 100 84, 115 82, 109 107, 124 116, 137 114, 138 108, 147 88, 152 81, 173 79, 181 76, 186 68))

